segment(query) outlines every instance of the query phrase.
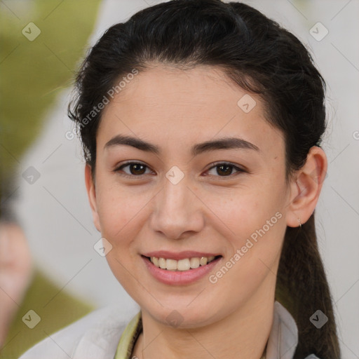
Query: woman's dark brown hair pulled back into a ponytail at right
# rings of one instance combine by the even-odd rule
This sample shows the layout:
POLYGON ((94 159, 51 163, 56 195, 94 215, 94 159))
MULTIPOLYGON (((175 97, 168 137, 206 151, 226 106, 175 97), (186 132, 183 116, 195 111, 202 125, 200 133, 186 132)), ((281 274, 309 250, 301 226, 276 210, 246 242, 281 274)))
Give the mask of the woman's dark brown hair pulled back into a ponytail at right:
MULTIPOLYGON (((77 124, 83 152, 95 173, 96 133, 102 111, 83 126, 93 108, 119 79, 154 62, 183 69, 221 68, 249 93, 257 93, 266 119, 285 137, 286 179, 304 165, 325 132, 325 81, 296 36, 248 5, 220 0, 173 0, 145 8, 118 23, 93 46, 76 78, 69 117, 77 124)), ((320 259, 314 214, 302 228, 287 227, 276 299, 299 329, 294 359, 311 353, 340 358, 332 298, 320 259), (329 318, 317 329, 318 309, 329 318)))

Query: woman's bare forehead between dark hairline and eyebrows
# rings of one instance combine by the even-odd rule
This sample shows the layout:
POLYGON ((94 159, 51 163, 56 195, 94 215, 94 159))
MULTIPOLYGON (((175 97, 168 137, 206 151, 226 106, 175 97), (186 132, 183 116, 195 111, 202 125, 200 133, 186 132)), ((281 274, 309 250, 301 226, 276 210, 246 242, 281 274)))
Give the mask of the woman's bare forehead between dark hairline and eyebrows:
POLYGON ((116 134, 154 144, 190 146, 230 135, 264 151, 273 143, 283 145, 280 130, 264 117, 262 100, 233 83, 221 69, 205 66, 158 65, 134 76, 104 109, 98 144, 116 134))

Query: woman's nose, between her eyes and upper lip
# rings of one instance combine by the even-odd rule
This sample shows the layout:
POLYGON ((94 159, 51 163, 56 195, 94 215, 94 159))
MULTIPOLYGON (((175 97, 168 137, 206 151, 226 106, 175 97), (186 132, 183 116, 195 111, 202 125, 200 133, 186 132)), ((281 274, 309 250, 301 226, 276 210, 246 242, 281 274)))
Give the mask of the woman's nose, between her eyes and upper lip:
POLYGON ((187 238, 203 229, 202 202, 185 178, 177 184, 165 178, 163 190, 154 198, 151 229, 166 238, 187 238))

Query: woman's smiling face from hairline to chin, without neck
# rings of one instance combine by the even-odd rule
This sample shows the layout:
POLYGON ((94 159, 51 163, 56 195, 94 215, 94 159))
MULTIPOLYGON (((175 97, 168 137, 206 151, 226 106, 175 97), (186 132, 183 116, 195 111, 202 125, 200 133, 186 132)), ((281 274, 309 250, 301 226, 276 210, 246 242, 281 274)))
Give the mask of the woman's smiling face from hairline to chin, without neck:
POLYGON ((86 172, 111 271, 142 311, 182 327, 274 295, 290 187, 261 100, 214 67, 133 77, 102 115, 95 187, 86 172))

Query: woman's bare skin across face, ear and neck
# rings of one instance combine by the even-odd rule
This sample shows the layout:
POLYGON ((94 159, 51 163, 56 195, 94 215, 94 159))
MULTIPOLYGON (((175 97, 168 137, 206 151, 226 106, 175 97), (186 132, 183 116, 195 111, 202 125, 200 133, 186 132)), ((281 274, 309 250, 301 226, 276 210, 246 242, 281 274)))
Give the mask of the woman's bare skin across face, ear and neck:
POLYGON ((283 134, 266 121, 256 95, 250 94, 257 103, 251 111, 238 107, 245 94, 220 69, 159 65, 135 76, 102 115, 95 181, 86 165, 86 188, 95 226, 112 245, 111 271, 142 310, 137 358, 262 356, 285 229, 313 213, 327 159, 312 147, 286 183, 283 134), (160 151, 106 146, 120 134, 160 151), (195 144, 223 137, 240 137, 257 149, 191 154, 195 144), (118 169, 127 161, 144 165, 143 174, 130 165, 118 169), (218 162, 241 170, 223 174, 218 162), (165 177, 174 165, 184 174, 177 184, 165 177), (217 283, 205 276, 187 285, 164 284, 144 263, 143 253, 156 250, 210 252, 222 255, 214 274, 276 213, 276 224, 217 283), (182 318, 178 326, 166 319, 172 311, 182 318))

